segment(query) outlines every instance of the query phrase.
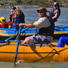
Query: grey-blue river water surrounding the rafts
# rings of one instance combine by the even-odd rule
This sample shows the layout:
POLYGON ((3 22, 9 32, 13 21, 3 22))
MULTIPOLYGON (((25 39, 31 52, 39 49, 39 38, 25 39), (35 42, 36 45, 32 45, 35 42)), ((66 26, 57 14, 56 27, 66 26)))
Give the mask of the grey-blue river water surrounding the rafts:
MULTIPOLYGON (((25 14, 25 22, 32 23, 38 20, 39 16, 36 10, 37 6, 23 6, 18 5, 25 14)), ((52 8, 47 8, 51 10, 52 8)), ((0 7, 0 17, 6 17, 8 21, 10 15, 10 7, 0 7)), ((61 15, 55 25, 68 25, 68 7, 61 8, 61 15)), ((46 62, 46 63, 19 63, 17 67, 14 67, 14 63, 0 62, 0 68, 68 68, 68 62, 46 62)))

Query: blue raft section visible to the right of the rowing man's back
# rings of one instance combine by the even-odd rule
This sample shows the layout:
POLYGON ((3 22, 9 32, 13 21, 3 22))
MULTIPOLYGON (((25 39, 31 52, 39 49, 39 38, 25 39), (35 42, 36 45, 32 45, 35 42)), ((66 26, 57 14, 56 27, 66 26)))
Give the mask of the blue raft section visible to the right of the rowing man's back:
POLYGON ((54 39, 59 39, 61 36, 68 36, 68 25, 55 26, 54 39))

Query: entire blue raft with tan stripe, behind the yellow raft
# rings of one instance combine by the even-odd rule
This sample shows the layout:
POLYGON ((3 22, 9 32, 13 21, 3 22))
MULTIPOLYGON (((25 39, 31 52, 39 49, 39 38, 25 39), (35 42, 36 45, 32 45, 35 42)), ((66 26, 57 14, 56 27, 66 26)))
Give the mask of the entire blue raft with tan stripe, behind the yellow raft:
MULTIPOLYGON (((27 30, 24 31, 24 33, 22 31, 23 29, 21 30, 22 39, 24 39, 27 36, 35 35, 37 33, 36 28, 28 28, 27 30)), ((15 35, 16 33, 17 31, 15 28, 0 28, 0 37, 2 40, 15 35)), ((68 36, 68 25, 55 26, 54 36, 53 36, 54 39, 58 39, 61 36, 68 36)))

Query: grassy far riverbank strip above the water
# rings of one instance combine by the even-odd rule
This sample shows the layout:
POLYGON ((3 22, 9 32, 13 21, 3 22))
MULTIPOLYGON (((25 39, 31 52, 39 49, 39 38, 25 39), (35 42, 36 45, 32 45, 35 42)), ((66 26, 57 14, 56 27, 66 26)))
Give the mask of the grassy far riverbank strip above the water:
MULTIPOLYGON (((13 6, 13 5, 38 5, 38 6, 45 6, 45 7, 52 7, 54 0, 0 0, 0 6, 13 6)), ((60 7, 68 7, 67 0, 57 0, 59 2, 60 7)))

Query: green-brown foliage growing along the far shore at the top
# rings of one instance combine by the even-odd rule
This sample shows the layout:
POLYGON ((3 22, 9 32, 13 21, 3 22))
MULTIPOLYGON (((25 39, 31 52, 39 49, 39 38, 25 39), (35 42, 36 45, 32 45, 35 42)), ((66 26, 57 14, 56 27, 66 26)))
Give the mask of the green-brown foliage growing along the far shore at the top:
POLYGON ((68 0, 0 0, 0 1, 11 1, 12 4, 24 4, 24 5, 39 5, 51 7, 53 2, 57 1, 60 3, 60 6, 68 6, 68 0))

